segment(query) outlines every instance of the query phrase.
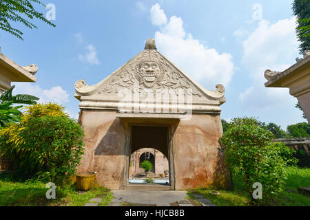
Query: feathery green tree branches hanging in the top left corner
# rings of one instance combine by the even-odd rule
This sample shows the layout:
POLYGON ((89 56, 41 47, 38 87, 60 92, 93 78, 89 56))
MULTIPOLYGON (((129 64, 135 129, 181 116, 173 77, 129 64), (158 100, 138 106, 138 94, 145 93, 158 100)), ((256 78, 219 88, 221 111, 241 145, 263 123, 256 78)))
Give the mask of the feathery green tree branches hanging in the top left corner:
POLYGON ((37 3, 45 7, 45 5, 38 0, 1 0, 0 1, 0 30, 9 32, 10 34, 17 36, 17 38, 23 40, 23 32, 13 28, 12 22, 21 22, 28 28, 37 28, 30 20, 36 18, 48 25, 56 27, 54 23, 48 21, 43 16, 43 13, 34 10, 33 3, 37 3))

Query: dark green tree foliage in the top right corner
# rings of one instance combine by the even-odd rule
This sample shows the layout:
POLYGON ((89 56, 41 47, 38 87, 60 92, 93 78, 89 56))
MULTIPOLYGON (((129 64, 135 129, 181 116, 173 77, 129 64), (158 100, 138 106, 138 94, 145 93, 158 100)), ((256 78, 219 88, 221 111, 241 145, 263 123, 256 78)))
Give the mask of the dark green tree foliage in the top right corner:
POLYGON ((310 0, 294 0, 293 15, 297 17, 296 34, 300 41, 300 54, 310 50, 310 0))

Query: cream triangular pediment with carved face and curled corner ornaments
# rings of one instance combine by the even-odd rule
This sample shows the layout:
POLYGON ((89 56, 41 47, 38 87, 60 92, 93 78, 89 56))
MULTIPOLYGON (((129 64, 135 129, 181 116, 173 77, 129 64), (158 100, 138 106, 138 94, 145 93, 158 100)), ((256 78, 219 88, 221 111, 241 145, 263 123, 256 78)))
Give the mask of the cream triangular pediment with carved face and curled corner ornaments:
POLYGON ((100 83, 88 86, 84 80, 78 80, 75 84, 75 96, 81 102, 85 100, 80 107, 91 107, 91 102, 94 102, 94 106, 100 108, 103 107, 103 102, 119 102, 124 94, 138 93, 144 96, 153 93, 155 97, 158 92, 175 93, 176 96, 183 92, 191 96, 193 104, 204 107, 218 107, 225 102, 223 85, 216 85, 214 91, 204 89, 158 52, 152 41, 148 40, 145 50, 100 83))

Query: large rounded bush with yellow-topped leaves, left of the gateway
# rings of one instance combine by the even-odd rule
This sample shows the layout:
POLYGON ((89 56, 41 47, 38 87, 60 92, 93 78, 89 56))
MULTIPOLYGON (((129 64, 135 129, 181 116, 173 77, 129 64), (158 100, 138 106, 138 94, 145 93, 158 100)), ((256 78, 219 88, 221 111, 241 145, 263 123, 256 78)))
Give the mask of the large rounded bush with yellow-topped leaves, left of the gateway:
POLYGON ((15 177, 62 184, 83 155, 81 126, 58 104, 34 104, 19 124, 0 131, 0 154, 12 162, 15 177))

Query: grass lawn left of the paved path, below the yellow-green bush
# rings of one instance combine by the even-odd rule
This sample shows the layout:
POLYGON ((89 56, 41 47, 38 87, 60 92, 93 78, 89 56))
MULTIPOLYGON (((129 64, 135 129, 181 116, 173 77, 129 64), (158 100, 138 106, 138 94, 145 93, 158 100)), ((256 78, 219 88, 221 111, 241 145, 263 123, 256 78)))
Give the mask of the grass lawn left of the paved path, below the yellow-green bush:
POLYGON ((79 194, 74 185, 56 186, 56 199, 46 199, 48 188, 41 182, 13 182, 0 175, 0 206, 83 206, 90 199, 103 198, 99 206, 107 206, 112 193, 96 187, 79 194))

